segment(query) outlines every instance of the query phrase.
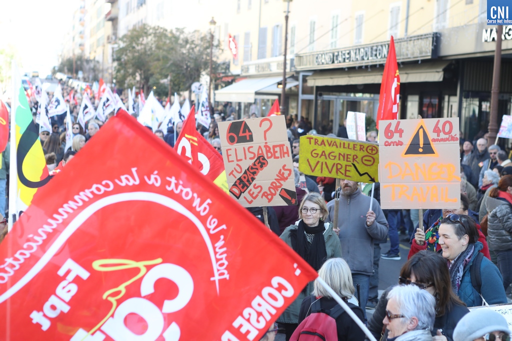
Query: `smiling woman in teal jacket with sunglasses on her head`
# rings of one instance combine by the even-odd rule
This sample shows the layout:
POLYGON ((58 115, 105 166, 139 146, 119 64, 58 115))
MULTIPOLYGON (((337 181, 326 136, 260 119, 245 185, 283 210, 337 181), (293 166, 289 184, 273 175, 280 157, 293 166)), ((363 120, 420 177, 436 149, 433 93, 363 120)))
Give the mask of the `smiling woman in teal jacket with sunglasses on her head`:
POLYGON ((478 231, 472 218, 450 214, 442 219, 439 245, 448 262, 452 288, 462 302, 468 307, 481 306, 482 298, 488 304, 507 303, 500 271, 493 262, 479 256, 483 246, 478 241, 478 231), (478 266, 478 263, 479 269, 471 271, 472 266, 478 266), (475 283, 472 274, 476 277, 475 283))

